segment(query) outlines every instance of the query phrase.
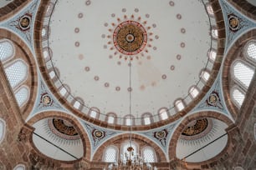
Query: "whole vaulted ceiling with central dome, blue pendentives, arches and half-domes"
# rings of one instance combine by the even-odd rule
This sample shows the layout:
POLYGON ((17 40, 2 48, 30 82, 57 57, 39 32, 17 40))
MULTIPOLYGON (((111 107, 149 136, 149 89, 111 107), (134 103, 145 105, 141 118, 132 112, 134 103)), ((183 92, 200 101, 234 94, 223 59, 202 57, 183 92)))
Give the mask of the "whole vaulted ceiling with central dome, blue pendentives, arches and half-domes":
MULTIPOLYGON (((0 7, 13 2, 0 2, 0 7)), ((2 32, 14 37, 0 36, 0 43, 13 52, 2 61, 7 77, 13 61, 21 61, 25 70, 17 87, 7 81, 24 122, 34 128, 31 141, 38 153, 61 163, 101 162, 106 146, 120 149, 132 138, 138 150, 154 148, 158 162, 193 164, 216 158, 227 148, 226 129, 237 120, 239 101, 230 102, 223 86, 235 83, 223 78, 233 69, 225 59, 238 38, 256 28, 255 20, 233 4, 23 4, 0 20, 2 32)))

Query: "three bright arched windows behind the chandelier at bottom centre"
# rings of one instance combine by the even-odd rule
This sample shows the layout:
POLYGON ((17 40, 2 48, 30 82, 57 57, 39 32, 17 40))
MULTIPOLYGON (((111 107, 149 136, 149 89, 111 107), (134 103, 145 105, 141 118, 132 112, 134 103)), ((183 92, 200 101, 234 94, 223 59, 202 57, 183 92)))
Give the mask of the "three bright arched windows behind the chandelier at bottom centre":
POLYGON ((105 149, 105 152, 103 154, 102 161, 106 163, 117 163, 118 160, 126 161, 125 154, 128 155, 129 152, 127 151, 127 148, 129 147, 134 148, 134 154, 131 155, 131 159, 135 157, 141 157, 142 160, 145 163, 155 163, 156 160, 156 153, 153 148, 146 146, 144 148, 141 148, 141 152, 138 148, 138 144, 132 142, 131 145, 129 141, 126 141, 125 143, 122 143, 120 146, 120 149, 111 145, 108 148, 105 149))

